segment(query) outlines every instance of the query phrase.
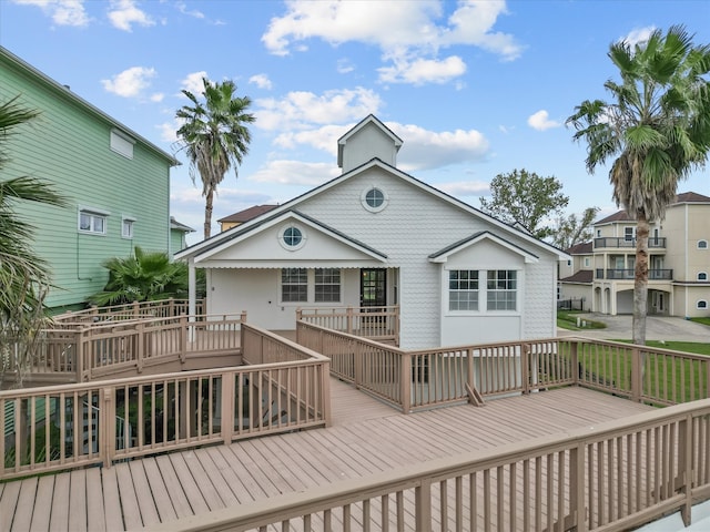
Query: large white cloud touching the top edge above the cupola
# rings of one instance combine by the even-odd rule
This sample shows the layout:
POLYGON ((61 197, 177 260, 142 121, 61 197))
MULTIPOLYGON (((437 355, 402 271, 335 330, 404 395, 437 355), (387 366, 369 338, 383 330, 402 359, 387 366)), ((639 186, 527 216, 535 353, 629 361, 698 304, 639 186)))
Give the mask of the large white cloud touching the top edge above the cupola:
POLYGON ((393 65, 379 69, 383 81, 445 83, 466 71, 456 55, 440 60, 438 51, 452 45, 473 45, 517 59, 523 47, 513 35, 493 31, 506 14, 503 0, 462 0, 448 20, 437 0, 388 2, 313 2, 292 0, 287 12, 274 17, 262 35, 272 53, 287 55, 305 49, 305 41, 322 39, 333 45, 357 41, 379 47, 383 60, 393 65))

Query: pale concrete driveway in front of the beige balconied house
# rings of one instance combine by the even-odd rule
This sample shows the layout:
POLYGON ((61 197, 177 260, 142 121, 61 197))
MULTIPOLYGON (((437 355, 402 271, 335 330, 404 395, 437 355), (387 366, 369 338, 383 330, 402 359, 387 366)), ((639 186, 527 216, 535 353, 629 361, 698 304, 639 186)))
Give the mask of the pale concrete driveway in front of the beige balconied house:
MULTIPOLYGON (((607 324, 606 329, 565 330, 557 329, 559 336, 582 336, 598 339, 631 339, 631 316, 607 316, 605 314, 582 314, 582 319, 607 324)), ((647 340, 680 340, 710 342, 710 327, 682 318, 649 316, 646 318, 647 340)))

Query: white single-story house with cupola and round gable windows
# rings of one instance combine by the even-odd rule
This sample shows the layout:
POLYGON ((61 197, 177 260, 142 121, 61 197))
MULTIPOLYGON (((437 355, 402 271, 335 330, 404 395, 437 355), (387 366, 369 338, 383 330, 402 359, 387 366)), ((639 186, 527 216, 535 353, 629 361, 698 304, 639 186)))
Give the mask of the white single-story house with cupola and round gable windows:
POLYGON ((207 313, 288 330, 300 307, 399 305, 409 349, 555 336, 569 256, 397 170, 400 146, 369 115, 342 175, 179 253, 206 269, 207 313))

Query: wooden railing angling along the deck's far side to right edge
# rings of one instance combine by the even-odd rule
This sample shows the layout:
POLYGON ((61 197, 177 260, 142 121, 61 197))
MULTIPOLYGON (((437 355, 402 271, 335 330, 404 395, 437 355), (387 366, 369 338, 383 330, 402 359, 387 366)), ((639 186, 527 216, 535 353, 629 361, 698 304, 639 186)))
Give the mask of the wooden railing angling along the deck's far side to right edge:
POLYGON ((403 412, 579 385, 652 405, 710 397, 710 357, 613 341, 551 338, 406 351, 306 321, 297 341, 331 358, 335 377, 403 412))

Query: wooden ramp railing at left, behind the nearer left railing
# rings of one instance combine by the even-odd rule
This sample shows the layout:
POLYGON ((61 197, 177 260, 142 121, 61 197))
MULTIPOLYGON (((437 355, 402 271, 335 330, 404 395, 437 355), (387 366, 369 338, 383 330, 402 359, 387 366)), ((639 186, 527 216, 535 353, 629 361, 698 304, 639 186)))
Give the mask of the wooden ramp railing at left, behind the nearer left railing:
MULTIPOLYGON (((87 382, 131 369, 142 372, 151 365, 173 360, 184 364, 190 356, 241 354, 241 325, 235 316, 178 316, 138 318, 91 326, 73 323, 45 329, 29 375, 87 382)), ((8 359, 6 375, 17 370, 8 359)))

